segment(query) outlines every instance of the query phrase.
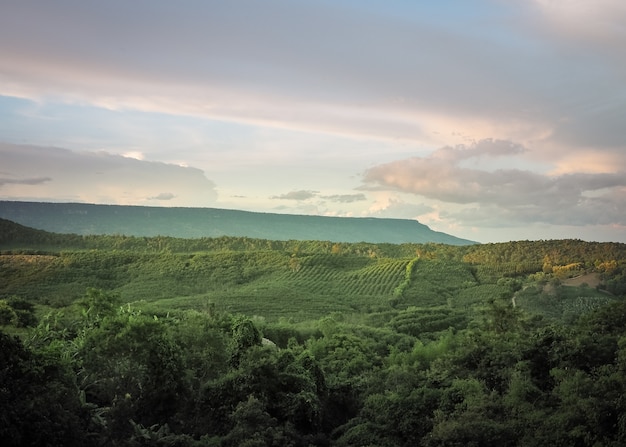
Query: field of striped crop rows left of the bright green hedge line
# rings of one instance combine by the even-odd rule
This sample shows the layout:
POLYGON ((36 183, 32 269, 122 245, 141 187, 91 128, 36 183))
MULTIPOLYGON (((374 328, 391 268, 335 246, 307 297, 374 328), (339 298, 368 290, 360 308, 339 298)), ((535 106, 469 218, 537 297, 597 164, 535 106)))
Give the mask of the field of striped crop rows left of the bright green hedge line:
MULTIPOLYGON (((298 268, 276 268, 239 284, 205 284, 191 296, 151 300, 146 310, 195 308, 208 300, 217 309, 262 316, 315 319, 332 312, 362 313, 386 308, 409 260, 313 255, 298 268)), ((182 281, 183 285, 185 281, 182 281)), ((136 287, 136 285, 134 286, 136 287)), ((195 284, 198 288, 198 284, 195 284)))

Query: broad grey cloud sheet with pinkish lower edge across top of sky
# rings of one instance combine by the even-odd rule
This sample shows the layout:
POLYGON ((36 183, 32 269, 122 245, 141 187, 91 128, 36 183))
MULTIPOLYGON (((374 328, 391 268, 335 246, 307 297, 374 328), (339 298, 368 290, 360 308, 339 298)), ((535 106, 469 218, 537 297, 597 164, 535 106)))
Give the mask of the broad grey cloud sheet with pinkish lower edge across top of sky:
POLYGON ((112 108, 421 141, 434 114, 452 120, 437 130, 487 123, 474 138, 582 136, 615 150, 626 98, 611 64, 624 45, 605 58, 576 51, 578 40, 548 32, 565 15, 536 3, 479 2, 501 21, 476 33, 419 8, 400 18, 285 0, 26 0, 3 8, 0 73, 29 97, 61 91, 112 108))

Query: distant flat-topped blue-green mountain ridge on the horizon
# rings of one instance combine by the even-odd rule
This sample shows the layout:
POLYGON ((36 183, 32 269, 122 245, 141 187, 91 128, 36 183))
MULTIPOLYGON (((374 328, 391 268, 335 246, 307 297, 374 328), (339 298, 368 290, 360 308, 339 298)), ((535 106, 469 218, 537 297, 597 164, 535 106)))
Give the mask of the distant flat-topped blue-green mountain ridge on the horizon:
POLYGON ((246 236, 282 241, 393 244, 475 243, 433 231, 409 219, 304 216, 216 208, 0 201, 0 217, 40 230, 81 235, 161 235, 181 238, 246 236))

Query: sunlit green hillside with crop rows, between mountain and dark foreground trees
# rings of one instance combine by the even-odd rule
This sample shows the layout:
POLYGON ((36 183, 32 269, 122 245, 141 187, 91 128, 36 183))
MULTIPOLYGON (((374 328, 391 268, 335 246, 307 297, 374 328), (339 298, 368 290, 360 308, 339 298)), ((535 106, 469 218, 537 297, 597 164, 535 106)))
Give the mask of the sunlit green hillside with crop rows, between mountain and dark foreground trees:
POLYGON ((520 308, 559 319, 624 293, 624 244, 81 236, 3 219, 0 230, 0 297, 17 295, 56 307, 96 287, 157 313, 211 303, 271 321, 305 321, 332 312, 391 312, 391 318, 415 306, 472 313, 490 299, 512 299, 515 293, 520 308), (590 272, 602 278, 597 287, 561 285, 590 272))

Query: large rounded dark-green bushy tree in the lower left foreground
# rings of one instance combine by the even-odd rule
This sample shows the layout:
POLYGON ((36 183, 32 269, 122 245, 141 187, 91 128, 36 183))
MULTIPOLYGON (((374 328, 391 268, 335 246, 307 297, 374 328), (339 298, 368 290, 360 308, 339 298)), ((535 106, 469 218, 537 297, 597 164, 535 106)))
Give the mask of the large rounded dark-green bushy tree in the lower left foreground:
POLYGON ((172 425, 186 401, 185 359, 166 322, 135 313, 102 319, 86 333, 78 353, 87 400, 110 408, 111 435, 143 426, 172 425))

